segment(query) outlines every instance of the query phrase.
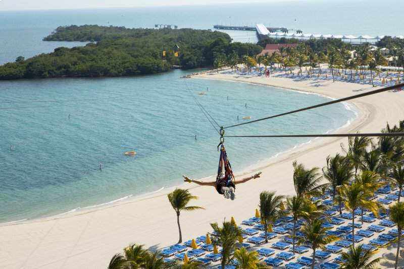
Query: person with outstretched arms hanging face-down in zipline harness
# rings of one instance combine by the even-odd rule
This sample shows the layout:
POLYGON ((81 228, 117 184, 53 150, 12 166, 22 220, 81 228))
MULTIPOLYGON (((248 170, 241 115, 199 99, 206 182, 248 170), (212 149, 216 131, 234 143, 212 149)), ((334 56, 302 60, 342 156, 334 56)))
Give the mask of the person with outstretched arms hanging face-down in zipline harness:
MULTIPOLYGON (((185 182, 189 183, 195 183, 201 186, 213 186, 216 188, 217 192, 219 194, 223 194, 226 199, 230 198, 234 200, 235 198, 235 188, 237 184, 241 184, 244 182, 247 182, 248 180, 251 180, 253 178, 259 178, 261 175, 261 172, 245 177, 240 180, 236 180, 233 175, 233 171, 231 170, 231 165, 229 163, 229 160, 227 159, 227 154, 226 154, 226 149, 224 148, 223 143, 221 142, 219 144, 221 146, 220 148, 220 159, 219 159, 219 168, 218 168, 218 175, 216 176, 216 181, 209 181, 209 182, 203 182, 203 181, 198 181, 194 179, 190 179, 189 177, 183 176, 185 182)), ((218 146, 218 147, 219 147, 218 146)))

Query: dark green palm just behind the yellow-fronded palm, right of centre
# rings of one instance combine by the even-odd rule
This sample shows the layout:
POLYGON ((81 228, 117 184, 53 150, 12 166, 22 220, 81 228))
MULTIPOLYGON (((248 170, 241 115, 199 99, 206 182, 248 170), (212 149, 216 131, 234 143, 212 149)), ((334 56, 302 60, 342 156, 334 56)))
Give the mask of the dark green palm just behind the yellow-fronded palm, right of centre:
MULTIPOLYGON (((346 184, 354 173, 352 172, 352 164, 348 157, 343 157, 338 153, 335 157, 328 156, 327 167, 323 168, 324 177, 332 186, 332 198, 335 198, 337 186, 346 184)), ((339 199, 339 214, 342 214, 341 200, 339 199)))

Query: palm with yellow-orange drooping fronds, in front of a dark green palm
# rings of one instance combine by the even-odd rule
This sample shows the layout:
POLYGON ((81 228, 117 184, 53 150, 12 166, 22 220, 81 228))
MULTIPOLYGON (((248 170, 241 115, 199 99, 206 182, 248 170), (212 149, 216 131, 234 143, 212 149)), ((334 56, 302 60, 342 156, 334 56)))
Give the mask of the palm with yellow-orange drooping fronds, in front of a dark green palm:
POLYGON ((343 185, 339 189, 339 194, 344 200, 344 204, 347 210, 352 212, 352 245, 355 245, 355 210, 358 208, 366 208, 371 210, 376 216, 378 215, 378 205, 374 201, 369 201, 369 192, 362 185, 357 182, 352 185, 343 185))

